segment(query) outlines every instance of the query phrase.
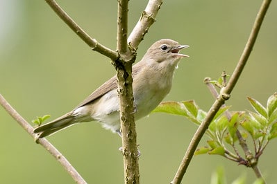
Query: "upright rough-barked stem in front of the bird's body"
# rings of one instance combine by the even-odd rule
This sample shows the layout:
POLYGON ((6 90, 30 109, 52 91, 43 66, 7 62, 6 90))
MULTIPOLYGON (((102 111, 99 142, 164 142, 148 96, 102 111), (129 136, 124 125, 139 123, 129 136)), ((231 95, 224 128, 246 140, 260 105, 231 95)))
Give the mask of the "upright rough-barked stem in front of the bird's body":
POLYGON ((135 53, 127 44, 128 0, 118 0, 117 10, 117 52, 119 59, 114 61, 117 69, 120 104, 122 154, 124 160, 124 183, 140 183, 138 165, 137 133, 135 131, 132 64, 135 53))

